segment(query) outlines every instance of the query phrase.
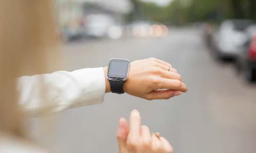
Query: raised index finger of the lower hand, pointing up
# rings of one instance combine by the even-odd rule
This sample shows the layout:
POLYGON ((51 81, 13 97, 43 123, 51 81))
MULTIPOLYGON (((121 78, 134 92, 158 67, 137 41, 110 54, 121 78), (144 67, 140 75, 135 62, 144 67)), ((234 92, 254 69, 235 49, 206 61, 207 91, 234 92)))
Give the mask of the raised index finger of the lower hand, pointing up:
POLYGON ((140 113, 137 110, 133 110, 130 116, 130 132, 133 138, 138 138, 140 136, 140 113))

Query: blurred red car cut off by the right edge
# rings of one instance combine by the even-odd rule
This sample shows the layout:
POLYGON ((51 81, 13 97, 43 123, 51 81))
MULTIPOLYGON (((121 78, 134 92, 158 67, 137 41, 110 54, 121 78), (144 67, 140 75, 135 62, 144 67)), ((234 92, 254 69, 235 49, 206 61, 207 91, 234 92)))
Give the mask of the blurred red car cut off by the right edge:
POLYGON ((248 82, 256 81, 256 25, 251 26, 250 30, 254 36, 248 41, 248 48, 239 54, 236 62, 243 78, 248 82))

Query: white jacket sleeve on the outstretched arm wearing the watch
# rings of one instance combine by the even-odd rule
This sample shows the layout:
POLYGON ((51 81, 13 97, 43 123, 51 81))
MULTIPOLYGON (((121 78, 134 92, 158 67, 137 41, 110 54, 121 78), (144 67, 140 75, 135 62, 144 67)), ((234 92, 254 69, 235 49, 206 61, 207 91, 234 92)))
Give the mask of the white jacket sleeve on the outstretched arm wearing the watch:
POLYGON ((40 117, 67 109, 102 104, 103 68, 57 71, 18 79, 19 106, 26 117, 40 117))

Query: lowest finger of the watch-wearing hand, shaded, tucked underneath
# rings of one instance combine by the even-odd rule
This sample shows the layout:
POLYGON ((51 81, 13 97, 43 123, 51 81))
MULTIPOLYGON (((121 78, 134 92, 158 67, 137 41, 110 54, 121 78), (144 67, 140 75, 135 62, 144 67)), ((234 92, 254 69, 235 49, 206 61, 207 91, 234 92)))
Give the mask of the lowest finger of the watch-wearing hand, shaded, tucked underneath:
POLYGON ((167 89, 167 90, 154 90, 152 91, 151 93, 148 93, 147 97, 148 99, 150 100, 153 100, 153 99, 169 99, 169 98, 172 98, 174 96, 178 96, 178 95, 181 95, 181 91, 177 91, 177 90, 170 90, 170 89, 167 89))

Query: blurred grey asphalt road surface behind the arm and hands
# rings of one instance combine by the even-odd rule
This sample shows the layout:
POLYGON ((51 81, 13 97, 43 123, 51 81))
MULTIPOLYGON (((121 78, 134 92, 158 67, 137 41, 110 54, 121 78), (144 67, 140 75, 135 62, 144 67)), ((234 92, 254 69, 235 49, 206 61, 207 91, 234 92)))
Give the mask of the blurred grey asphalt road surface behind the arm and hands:
POLYGON ((181 74, 188 92, 148 101, 107 93, 101 105, 55 115, 54 150, 118 152, 120 117, 141 113, 142 124, 160 132, 177 153, 256 152, 256 85, 247 84, 230 63, 211 58, 193 29, 174 29, 164 38, 124 38, 65 44, 66 70, 107 66, 111 58, 158 58, 181 74))

